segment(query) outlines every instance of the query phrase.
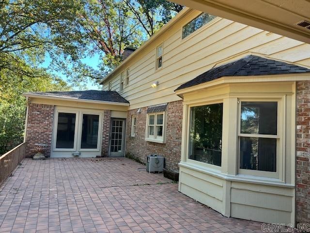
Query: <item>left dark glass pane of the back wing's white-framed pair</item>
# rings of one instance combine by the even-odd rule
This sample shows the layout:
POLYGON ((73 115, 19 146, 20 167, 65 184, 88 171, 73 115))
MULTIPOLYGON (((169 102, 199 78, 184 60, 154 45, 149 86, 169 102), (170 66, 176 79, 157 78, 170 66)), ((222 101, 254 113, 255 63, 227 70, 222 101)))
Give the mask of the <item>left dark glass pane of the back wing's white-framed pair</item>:
POLYGON ((59 113, 57 123, 56 148, 73 149, 76 127, 75 113, 59 113))

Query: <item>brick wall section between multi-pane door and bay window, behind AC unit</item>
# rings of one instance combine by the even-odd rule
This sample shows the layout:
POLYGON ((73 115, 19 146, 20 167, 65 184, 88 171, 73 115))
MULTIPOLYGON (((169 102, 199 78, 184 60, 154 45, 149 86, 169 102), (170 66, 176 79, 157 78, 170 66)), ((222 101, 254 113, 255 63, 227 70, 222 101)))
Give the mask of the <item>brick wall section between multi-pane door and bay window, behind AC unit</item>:
POLYGON ((126 156, 138 158, 141 162, 146 162, 146 156, 150 154, 162 154, 165 157, 165 167, 178 170, 178 163, 181 160, 181 140, 182 140, 182 100, 168 103, 167 106, 167 128, 166 143, 147 142, 145 138, 146 111, 147 107, 128 111, 127 132, 126 132, 126 156), (135 137, 131 137, 132 116, 137 116, 135 137))

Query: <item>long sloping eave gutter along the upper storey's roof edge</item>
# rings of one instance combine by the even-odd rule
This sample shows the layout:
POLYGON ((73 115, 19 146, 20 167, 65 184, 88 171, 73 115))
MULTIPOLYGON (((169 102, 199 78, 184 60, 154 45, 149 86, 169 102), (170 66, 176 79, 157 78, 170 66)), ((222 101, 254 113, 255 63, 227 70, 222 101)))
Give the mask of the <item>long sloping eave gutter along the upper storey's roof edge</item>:
POLYGON ((175 17, 173 17, 168 23, 165 24, 158 32, 152 35, 147 41, 145 41, 137 50, 131 53, 120 65, 114 68, 103 80, 99 83, 102 84, 104 81, 109 79, 113 74, 115 74, 121 67, 129 62, 133 57, 135 57, 141 50, 147 47, 150 43, 152 43, 157 37, 161 34, 165 33, 172 25, 174 25, 178 19, 184 17, 190 10, 190 8, 186 7, 182 11, 180 11, 175 17))

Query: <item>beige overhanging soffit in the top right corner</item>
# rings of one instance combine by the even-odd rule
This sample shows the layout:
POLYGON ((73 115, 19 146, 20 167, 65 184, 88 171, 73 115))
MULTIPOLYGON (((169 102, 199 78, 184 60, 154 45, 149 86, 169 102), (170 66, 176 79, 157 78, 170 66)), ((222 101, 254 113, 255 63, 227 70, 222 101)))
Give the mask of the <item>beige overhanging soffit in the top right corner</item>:
POLYGON ((308 0, 171 1, 310 44, 310 26, 307 28, 296 25, 304 20, 310 22, 308 0))

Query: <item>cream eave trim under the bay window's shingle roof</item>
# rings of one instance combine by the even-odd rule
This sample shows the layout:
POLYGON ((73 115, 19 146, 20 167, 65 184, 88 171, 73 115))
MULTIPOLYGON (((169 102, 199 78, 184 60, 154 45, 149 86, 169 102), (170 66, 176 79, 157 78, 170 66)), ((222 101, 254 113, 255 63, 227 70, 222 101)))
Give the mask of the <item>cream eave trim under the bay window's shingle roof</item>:
POLYGON ((201 89, 207 89, 222 84, 229 83, 270 83, 270 82, 295 82, 310 80, 310 73, 298 74, 272 74, 272 75, 253 75, 253 76, 224 76, 206 83, 190 86, 184 89, 176 90, 175 93, 183 99, 186 93, 195 92, 201 89))

